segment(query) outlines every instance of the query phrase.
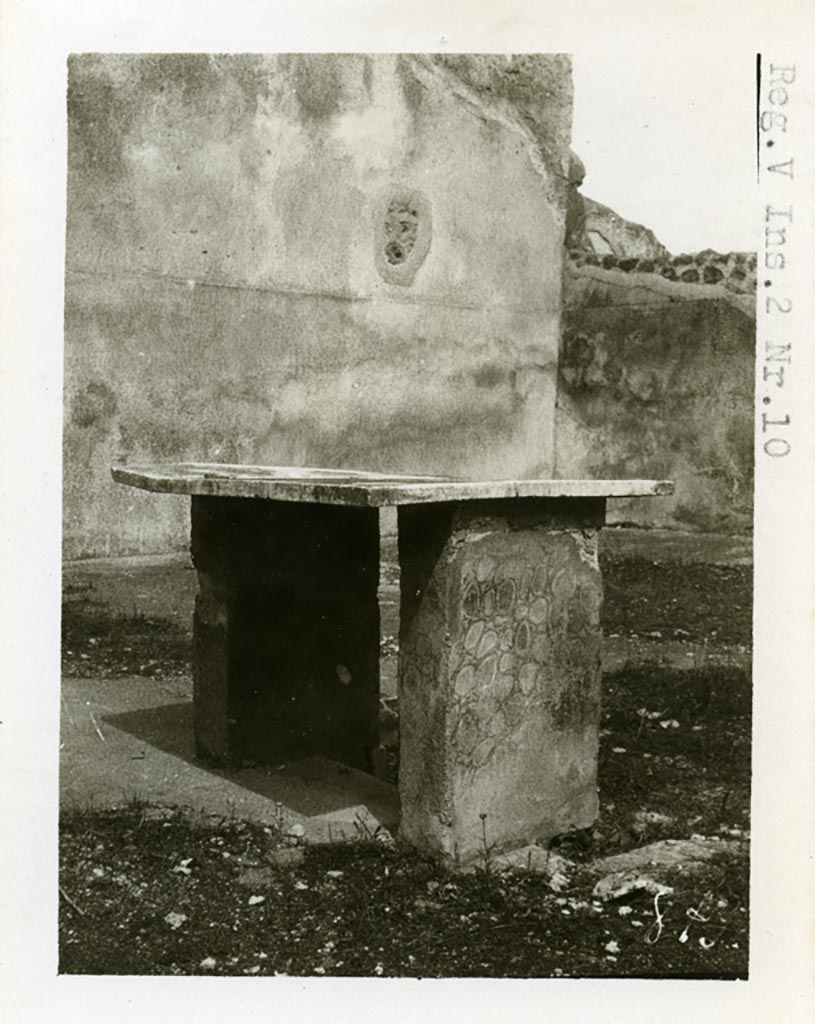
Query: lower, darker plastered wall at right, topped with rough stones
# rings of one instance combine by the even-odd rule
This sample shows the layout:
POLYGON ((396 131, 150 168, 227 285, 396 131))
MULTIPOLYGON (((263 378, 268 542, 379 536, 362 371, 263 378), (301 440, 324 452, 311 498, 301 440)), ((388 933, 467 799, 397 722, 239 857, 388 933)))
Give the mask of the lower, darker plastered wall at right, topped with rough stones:
POLYGON ((610 502, 611 522, 750 528, 755 296, 719 279, 566 268, 558 475, 676 481, 610 502))

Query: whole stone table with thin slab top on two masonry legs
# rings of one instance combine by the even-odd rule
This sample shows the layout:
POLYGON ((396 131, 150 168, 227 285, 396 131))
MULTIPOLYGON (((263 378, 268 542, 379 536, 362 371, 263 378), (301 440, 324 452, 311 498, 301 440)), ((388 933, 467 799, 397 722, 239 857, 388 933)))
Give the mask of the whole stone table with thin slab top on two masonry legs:
POLYGON ((587 827, 600 716, 606 498, 664 480, 495 480, 267 466, 117 467, 191 496, 199 754, 377 744, 379 513, 397 506, 401 836, 462 860, 587 827))

